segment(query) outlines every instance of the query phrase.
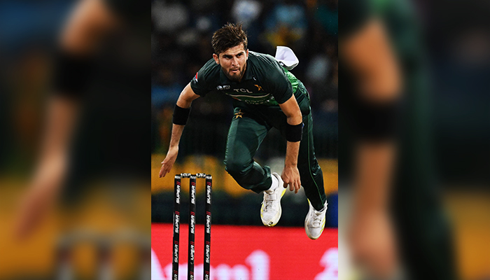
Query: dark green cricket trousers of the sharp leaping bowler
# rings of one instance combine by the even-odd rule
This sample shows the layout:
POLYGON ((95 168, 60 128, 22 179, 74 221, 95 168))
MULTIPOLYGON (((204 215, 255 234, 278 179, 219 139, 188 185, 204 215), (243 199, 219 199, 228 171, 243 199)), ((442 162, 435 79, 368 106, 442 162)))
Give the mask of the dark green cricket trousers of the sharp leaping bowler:
MULTIPOLYGON (((270 188, 271 172, 268 166, 262 167, 255 162, 253 156, 272 127, 278 129, 283 136, 285 135, 286 115, 279 106, 245 104, 237 101, 234 105, 235 116, 230 125, 226 144, 226 171, 242 188, 260 193, 270 188)), ((297 169, 300 171, 304 193, 311 205, 321 210, 326 197, 323 188, 323 173, 314 152, 311 111, 303 115, 303 123, 303 137, 297 158, 297 169)))

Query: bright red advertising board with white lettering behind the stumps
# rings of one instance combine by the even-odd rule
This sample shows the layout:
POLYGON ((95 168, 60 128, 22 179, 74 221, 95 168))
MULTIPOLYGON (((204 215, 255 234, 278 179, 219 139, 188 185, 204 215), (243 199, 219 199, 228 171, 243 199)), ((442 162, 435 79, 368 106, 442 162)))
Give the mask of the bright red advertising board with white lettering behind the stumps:
MULTIPOLYGON (((170 280, 172 225, 152 224, 151 232, 151 279, 170 280)), ((195 232, 196 280, 203 279, 204 258, 211 260, 214 280, 338 279, 337 229, 325 229, 319 239, 310 240, 304 228, 214 225, 210 252, 204 250, 203 225, 196 225, 195 232)), ((181 235, 179 279, 187 279, 187 243, 181 235)))

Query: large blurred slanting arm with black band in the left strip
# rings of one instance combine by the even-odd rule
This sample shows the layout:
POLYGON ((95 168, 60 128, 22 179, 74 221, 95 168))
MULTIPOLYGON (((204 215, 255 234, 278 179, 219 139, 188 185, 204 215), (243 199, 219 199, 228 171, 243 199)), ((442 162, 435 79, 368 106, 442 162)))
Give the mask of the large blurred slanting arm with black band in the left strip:
POLYGON ((93 57, 106 34, 119 25, 102 0, 79 1, 64 25, 55 62, 55 94, 48 100, 40 158, 16 218, 18 238, 27 237, 41 223, 59 195, 80 106, 77 97, 83 94, 86 82, 85 59, 93 57))

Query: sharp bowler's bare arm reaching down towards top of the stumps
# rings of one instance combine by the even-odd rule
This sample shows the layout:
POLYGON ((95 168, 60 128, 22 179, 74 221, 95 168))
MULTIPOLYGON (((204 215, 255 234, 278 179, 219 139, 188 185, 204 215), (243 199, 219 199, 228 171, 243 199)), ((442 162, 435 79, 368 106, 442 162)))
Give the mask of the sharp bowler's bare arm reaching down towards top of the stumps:
MULTIPOLYGON (((198 97, 200 97, 200 95, 194 93, 189 83, 182 90, 181 95, 177 100, 176 106, 179 106, 181 109, 190 109, 190 104, 192 104, 193 100, 197 99, 198 97)), ((181 141, 183 128, 186 126, 176 124, 175 116, 176 110, 174 111, 174 123, 172 124, 172 137, 170 138, 169 151, 167 152, 165 160, 162 161, 162 168, 160 168, 159 174, 160 178, 165 177, 165 175, 167 175, 167 173, 169 173, 174 166, 177 155, 179 154, 179 142, 181 141)))

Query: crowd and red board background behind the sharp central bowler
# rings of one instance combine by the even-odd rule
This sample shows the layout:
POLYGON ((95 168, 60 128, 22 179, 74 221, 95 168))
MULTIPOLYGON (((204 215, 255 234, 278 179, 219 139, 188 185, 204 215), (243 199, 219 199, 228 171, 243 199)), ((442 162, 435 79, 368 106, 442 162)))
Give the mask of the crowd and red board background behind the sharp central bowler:
MULTIPOLYGON (((211 241, 211 266, 230 266, 230 269, 225 270, 230 271, 230 279, 235 279, 232 276, 232 267, 246 265, 248 255, 262 250, 270 258, 270 279, 314 278, 328 269, 332 272, 324 273, 322 277, 335 276, 337 253, 327 251, 337 248, 337 1, 152 1, 151 13, 152 237, 157 235, 164 225, 168 225, 165 230, 172 231, 170 227, 174 207, 173 175, 182 172, 204 172, 213 176, 211 232, 216 232, 216 235, 212 235, 211 241), (183 87, 212 58, 211 36, 227 22, 243 23, 248 34, 249 50, 274 56, 276 46, 285 45, 291 48, 300 60, 300 64, 291 73, 304 83, 311 97, 315 153, 323 169, 325 193, 329 204, 325 228, 334 229, 325 230, 316 242, 309 240, 304 233, 304 217, 308 212, 308 203, 303 190, 297 195, 286 192, 281 200, 281 221, 274 228, 265 229, 267 231, 262 233, 262 195, 241 188, 225 171, 223 165, 228 127, 233 116, 232 99, 225 94, 209 94, 193 102, 190 118, 181 138, 176 165, 165 178, 158 178, 160 162, 165 158, 169 147, 172 113, 176 100, 183 87), (240 225, 240 230, 230 225, 240 225), (230 240, 219 239, 222 230, 230 230, 226 238, 230 240), (274 238, 280 230, 283 241, 274 238), (261 235, 262 239, 272 242, 271 246, 257 244, 253 241, 256 240, 255 235, 261 235), (246 236, 250 237, 249 240, 244 239, 246 236), (295 241, 288 242, 288 239, 295 241), (277 247, 274 244, 277 244, 277 247), (308 255, 300 249, 304 246, 319 246, 320 250, 308 255), (288 258, 286 255, 291 255, 297 263, 286 265, 286 262, 282 261, 288 258), (326 256, 321 262, 323 255, 328 255, 328 262, 326 256), (311 269, 308 271, 307 267, 311 269), (292 270, 289 271, 288 268, 292 270)), ((286 140, 281 137, 279 131, 273 129, 261 144, 255 160, 261 165, 271 167, 272 172, 280 174, 285 153, 286 140)), ((181 217, 183 223, 187 223, 188 179, 182 179, 182 186, 184 198, 181 217)), ((197 179, 196 214, 197 224, 204 223, 204 181, 200 182, 200 179, 197 179)), ((200 233, 199 230, 197 233, 200 233)), ((162 255, 162 279, 171 277, 168 264, 171 263, 169 255, 172 248, 165 247, 167 253, 158 251, 168 243, 170 235, 166 236, 168 240, 152 240, 155 255, 162 255)), ((184 244, 186 239, 186 235, 181 235, 181 244, 184 244)), ((198 237, 196 246, 199 249, 202 245, 197 240, 198 237)), ((183 254, 186 252, 183 251, 181 250, 181 262, 185 263, 186 257, 183 254)), ((202 263, 201 253, 197 253, 196 258, 196 264, 202 263)), ((247 267, 253 269, 253 266, 247 267)), ((225 272, 216 270, 215 275, 221 273, 225 272)), ((197 279, 200 279, 199 277, 197 275, 197 279)), ((250 277, 255 279, 252 275, 250 277)))

